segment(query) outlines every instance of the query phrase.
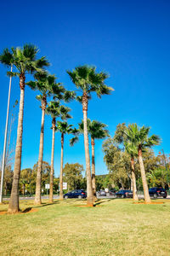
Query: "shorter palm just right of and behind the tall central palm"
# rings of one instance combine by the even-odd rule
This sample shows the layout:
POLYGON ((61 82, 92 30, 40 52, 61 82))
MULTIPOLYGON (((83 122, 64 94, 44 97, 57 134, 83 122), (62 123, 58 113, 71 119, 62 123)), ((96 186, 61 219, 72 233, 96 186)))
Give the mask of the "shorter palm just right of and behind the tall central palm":
MULTIPOLYGON (((83 121, 82 123, 79 124, 79 128, 78 131, 80 133, 83 133, 83 121)), ((107 125, 93 120, 91 121, 90 119, 88 119, 88 134, 91 137, 91 145, 92 145, 92 188, 93 188, 93 192, 94 192, 94 201, 97 200, 96 197, 96 184, 95 184, 95 160, 94 160, 94 140, 95 139, 104 139, 105 137, 109 136, 109 132, 108 130, 105 129, 107 125)), ((71 145, 73 145, 74 143, 77 142, 77 134, 76 137, 71 138, 71 145)))

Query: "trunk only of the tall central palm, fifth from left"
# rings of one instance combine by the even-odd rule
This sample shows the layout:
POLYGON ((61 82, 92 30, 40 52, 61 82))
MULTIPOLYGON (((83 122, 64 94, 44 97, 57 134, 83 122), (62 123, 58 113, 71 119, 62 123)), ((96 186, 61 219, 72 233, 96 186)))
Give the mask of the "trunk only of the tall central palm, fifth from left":
POLYGON ((82 96, 82 112, 83 112, 83 128, 84 128, 84 148, 86 158, 86 174, 87 174, 87 205, 94 207, 94 194, 92 188, 92 176, 90 170, 90 155, 88 145, 88 95, 86 91, 82 96))

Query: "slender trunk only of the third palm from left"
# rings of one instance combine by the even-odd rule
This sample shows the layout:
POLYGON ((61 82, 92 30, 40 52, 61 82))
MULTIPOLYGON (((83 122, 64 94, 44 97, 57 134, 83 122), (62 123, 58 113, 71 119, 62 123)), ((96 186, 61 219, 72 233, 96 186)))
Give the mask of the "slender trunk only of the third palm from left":
POLYGON ((52 121, 53 137, 51 150, 51 172, 50 172, 50 188, 49 188, 49 202, 53 202, 53 186, 54 186, 54 139, 55 139, 55 119, 52 121))

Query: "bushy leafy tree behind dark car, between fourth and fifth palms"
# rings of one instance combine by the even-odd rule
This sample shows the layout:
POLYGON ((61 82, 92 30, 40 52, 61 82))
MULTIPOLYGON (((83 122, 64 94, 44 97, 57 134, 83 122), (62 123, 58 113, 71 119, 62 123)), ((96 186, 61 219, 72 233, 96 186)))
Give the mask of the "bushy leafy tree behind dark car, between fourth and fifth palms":
POLYGON ((83 166, 75 163, 66 163, 63 169, 64 181, 68 185, 68 190, 82 189, 82 172, 84 172, 83 166))

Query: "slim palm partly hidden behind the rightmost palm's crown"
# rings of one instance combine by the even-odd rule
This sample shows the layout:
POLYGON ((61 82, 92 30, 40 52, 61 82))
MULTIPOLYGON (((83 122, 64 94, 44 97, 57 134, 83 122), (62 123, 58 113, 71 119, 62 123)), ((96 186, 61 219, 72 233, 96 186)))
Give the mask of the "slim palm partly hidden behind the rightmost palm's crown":
POLYGON ((138 201, 139 199, 138 199, 137 188, 136 188, 136 177, 134 172, 134 157, 138 156, 138 150, 134 146, 134 144, 129 142, 128 140, 124 141, 124 146, 127 151, 127 154, 129 154, 131 158, 131 176, 133 180, 133 201, 138 201))

